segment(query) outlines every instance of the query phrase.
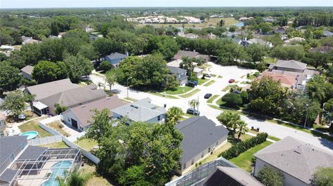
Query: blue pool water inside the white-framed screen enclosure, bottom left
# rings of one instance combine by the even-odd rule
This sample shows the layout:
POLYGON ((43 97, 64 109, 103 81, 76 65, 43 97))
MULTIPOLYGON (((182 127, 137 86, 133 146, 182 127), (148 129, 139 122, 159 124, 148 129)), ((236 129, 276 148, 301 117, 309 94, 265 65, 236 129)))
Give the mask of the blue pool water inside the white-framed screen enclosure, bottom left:
POLYGON ((59 186, 59 182, 58 180, 56 180, 56 178, 64 177, 65 170, 69 169, 69 167, 71 167, 71 161, 69 160, 57 162, 51 168, 52 174, 50 175, 49 180, 46 180, 46 182, 44 182, 42 186, 59 186))

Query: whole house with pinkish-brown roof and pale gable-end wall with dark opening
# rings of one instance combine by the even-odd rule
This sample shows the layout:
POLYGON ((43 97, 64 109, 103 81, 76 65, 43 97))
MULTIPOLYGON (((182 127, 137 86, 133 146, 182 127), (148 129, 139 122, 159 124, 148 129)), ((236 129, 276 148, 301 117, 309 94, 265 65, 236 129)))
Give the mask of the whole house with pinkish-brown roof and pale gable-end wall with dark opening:
MULTIPOLYGON (((112 110, 123 105, 125 105, 125 103, 123 103, 117 95, 114 95, 68 109, 61 113, 61 118, 62 122, 80 131, 85 131, 90 126, 90 122, 92 122, 92 115, 94 115, 95 110, 112 110)), ((112 117, 112 115, 110 115, 110 117, 112 117)))

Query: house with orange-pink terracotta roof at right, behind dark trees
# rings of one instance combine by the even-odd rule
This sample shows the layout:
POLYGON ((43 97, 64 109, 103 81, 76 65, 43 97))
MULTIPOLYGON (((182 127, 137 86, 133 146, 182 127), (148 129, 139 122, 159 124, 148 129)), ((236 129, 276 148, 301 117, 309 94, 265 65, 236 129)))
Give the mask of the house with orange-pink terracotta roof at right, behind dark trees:
POLYGON ((297 89, 298 84, 302 82, 298 82, 300 80, 299 75, 287 75, 284 73, 275 73, 271 71, 264 71, 256 80, 259 80, 262 77, 272 77, 275 81, 280 81, 283 87, 287 87, 288 89, 297 89))

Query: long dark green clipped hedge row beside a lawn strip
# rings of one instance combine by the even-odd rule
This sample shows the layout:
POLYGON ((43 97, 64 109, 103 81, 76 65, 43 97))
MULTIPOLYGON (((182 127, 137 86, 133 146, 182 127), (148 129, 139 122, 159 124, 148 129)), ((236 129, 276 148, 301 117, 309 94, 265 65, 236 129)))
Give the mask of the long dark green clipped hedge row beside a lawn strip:
POLYGON ((250 138, 248 140, 245 140, 244 142, 239 142, 235 145, 232 145, 230 149, 224 151, 222 154, 220 154, 220 156, 227 160, 235 158, 239 156, 239 154, 241 154, 242 152, 247 151, 248 149, 265 142, 267 136, 267 133, 258 133, 257 136, 255 136, 254 138, 250 138))

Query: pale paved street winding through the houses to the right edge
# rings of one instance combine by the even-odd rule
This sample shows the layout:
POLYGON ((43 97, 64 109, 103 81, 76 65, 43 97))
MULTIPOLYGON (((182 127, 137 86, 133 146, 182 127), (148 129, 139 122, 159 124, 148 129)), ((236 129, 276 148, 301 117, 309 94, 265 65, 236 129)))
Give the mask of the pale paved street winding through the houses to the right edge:
MULTIPOLYGON (((195 89, 200 89, 201 91, 199 93, 196 93, 195 95, 192 95, 191 97, 170 99, 167 97, 160 97, 157 95, 152 95, 150 93, 139 92, 131 89, 129 90, 129 97, 132 97, 135 100, 141 100, 145 97, 151 97, 153 104, 156 104, 158 106, 163 106, 164 104, 167 104, 167 109, 169 109, 171 106, 178 106, 182 108, 183 111, 186 111, 189 108, 188 104, 189 100, 199 99, 200 115, 205 115, 207 118, 210 118, 211 120, 219 124, 219 122, 216 120, 216 116, 219 115, 221 111, 212 109, 210 106, 208 106, 206 103, 207 100, 205 100, 203 96, 206 93, 212 93, 212 95, 225 94, 225 92, 221 90, 224 89, 226 86, 228 86, 229 84, 228 80, 234 79, 239 82, 241 82, 241 80, 246 81, 246 77, 243 76, 246 75, 247 73, 253 73, 254 70, 244 69, 237 66, 219 66, 213 63, 210 64, 212 65, 212 68, 208 68, 210 72, 207 73, 212 73, 214 75, 221 75, 222 78, 217 78, 217 77, 210 78, 211 80, 216 81, 214 84, 211 84, 210 86, 202 86, 202 85, 196 86, 195 89)), ((105 83, 103 77, 90 75, 90 78, 92 82, 94 82, 94 84, 98 85, 99 82, 105 83)), ((239 84, 239 86, 246 86, 246 84, 239 84)), ((118 96, 120 98, 127 97, 127 88, 125 86, 116 84, 112 86, 112 90, 114 89, 117 89, 117 91, 119 91, 118 96)), ((260 131, 266 132, 269 135, 275 136, 277 138, 285 138, 287 136, 291 136, 299 140, 309 142, 309 144, 311 145, 315 145, 316 147, 326 149, 327 151, 331 151, 333 153, 333 142, 330 142, 329 140, 317 138, 309 133, 297 131, 295 129, 280 126, 278 124, 273 124, 272 122, 257 120, 256 118, 249 118, 244 115, 241 115, 241 119, 244 120, 246 123, 248 123, 249 128, 251 126, 260 127, 260 131)))

